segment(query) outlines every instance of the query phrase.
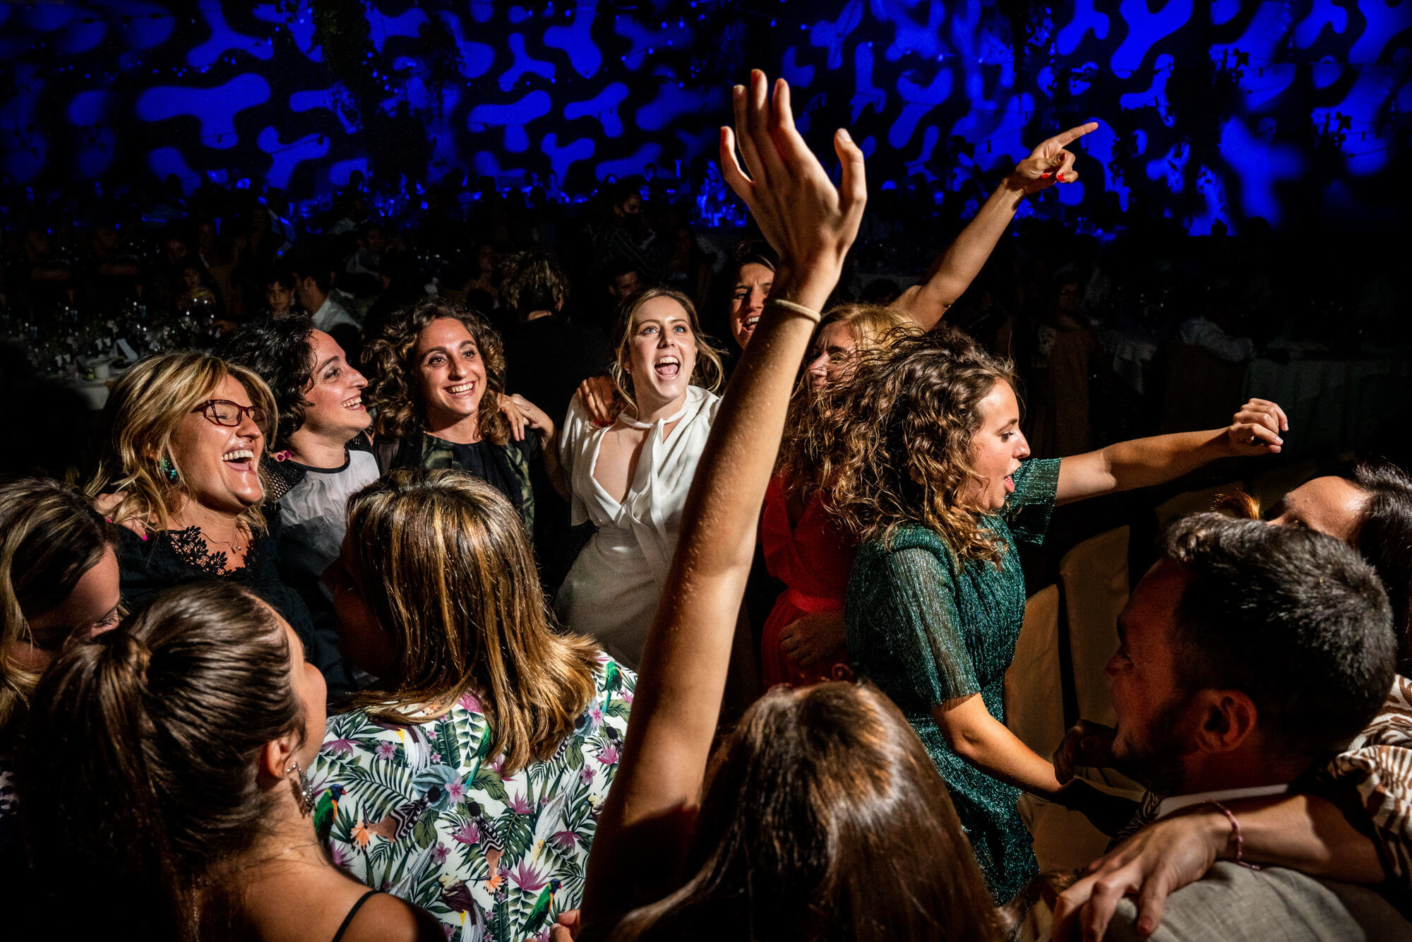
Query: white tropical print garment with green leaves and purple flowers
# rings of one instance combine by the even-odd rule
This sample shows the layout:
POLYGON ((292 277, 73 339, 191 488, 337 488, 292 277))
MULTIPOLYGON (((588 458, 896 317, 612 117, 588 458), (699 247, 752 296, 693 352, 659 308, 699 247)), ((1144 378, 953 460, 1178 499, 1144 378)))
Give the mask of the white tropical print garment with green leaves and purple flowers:
POLYGON ((596 692, 552 758, 501 775, 480 703, 391 726, 329 720, 311 770, 313 818, 356 880, 425 908, 448 939, 548 939, 578 908, 599 809, 617 773, 637 678, 600 661, 596 692))

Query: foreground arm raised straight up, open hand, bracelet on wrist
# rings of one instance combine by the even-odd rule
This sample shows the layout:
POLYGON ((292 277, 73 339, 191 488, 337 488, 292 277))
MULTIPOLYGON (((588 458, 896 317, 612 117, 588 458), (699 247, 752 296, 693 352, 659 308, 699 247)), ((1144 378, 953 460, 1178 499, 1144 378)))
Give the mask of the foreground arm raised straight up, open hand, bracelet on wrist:
MULTIPOLYGON (((774 107, 765 76, 734 89, 736 134, 722 129, 726 181, 779 250, 771 301, 819 311, 837 284, 863 217, 863 153, 834 136, 836 189, 795 130, 789 86, 774 107)), ((583 915, 607 931, 672 888, 690 840, 730 661, 755 524, 784 431, 789 393, 815 321, 767 302, 726 390, 686 499, 671 575, 647 647, 623 763, 589 856, 583 915)))

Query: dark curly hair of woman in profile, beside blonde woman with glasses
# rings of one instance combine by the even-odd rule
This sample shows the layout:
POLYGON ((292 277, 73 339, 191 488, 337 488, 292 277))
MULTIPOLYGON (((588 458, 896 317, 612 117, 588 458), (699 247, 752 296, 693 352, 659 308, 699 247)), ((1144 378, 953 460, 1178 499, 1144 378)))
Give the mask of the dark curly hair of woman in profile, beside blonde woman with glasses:
POLYGON ((253 370, 274 393, 280 439, 270 451, 288 448, 304 427, 304 394, 313 386, 313 318, 306 314, 261 318, 220 342, 215 354, 253 370))

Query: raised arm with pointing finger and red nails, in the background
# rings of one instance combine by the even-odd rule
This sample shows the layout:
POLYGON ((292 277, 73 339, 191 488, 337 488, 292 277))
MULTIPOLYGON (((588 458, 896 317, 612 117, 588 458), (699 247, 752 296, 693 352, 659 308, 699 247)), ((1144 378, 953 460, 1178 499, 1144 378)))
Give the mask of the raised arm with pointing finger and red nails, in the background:
POLYGON ((1041 141, 1029 157, 1015 164, 1015 171, 1001 181, 956 242, 936 257, 922 281, 904 291, 892 306, 912 315, 923 330, 935 328, 980 274, 1025 196, 1079 179, 1073 169, 1073 153, 1065 147, 1096 130, 1097 121, 1089 121, 1041 141))

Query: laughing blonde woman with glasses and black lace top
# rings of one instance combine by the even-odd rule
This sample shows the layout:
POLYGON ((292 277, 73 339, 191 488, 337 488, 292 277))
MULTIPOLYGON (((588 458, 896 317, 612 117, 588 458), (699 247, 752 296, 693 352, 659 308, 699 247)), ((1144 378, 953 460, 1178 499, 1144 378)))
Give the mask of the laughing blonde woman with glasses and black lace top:
POLYGON ((195 578, 229 579, 312 641, 309 610, 278 573, 280 517, 261 511, 274 424, 264 380, 213 356, 162 353, 123 374, 88 493, 120 525, 128 606, 195 578))

